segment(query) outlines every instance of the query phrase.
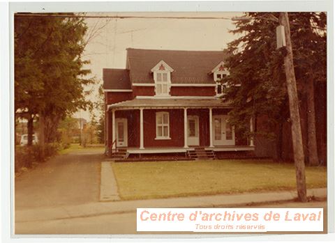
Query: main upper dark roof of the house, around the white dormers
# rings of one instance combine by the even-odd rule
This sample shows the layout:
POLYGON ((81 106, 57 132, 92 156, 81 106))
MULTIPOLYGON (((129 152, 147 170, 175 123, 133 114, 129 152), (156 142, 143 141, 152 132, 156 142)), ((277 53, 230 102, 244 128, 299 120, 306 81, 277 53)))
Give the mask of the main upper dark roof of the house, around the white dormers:
POLYGON ((151 68, 160 61, 174 69, 172 84, 215 84, 209 72, 225 60, 223 51, 172 51, 127 49, 127 69, 132 83, 154 83, 151 68))

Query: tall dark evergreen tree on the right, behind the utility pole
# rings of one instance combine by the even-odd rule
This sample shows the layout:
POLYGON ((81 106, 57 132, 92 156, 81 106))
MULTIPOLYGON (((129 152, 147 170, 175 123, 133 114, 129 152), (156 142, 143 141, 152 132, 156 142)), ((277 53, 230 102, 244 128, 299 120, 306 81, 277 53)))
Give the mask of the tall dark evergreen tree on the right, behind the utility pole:
MULTIPOLYGON (((227 82, 225 99, 231 100, 234 109, 230 112, 230 122, 245 136, 252 134, 248 130, 251 117, 255 119, 267 117, 267 130, 256 132, 275 137, 277 141, 277 158, 281 158, 281 130, 285 120, 288 120, 288 97, 283 72, 283 50, 276 49, 276 17, 277 13, 247 13, 250 21, 239 20, 232 33, 239 38, 230 42, 226 66, 230 76, 227 82), (236 86, 236 84, 242 84, 236 86)), ((293 56, 295 72, 299 87, 299 97, 303 97, 306 82, 314 84, 325 81, 326 36, 324 13, 290 13, 293 56), (313 68, 311 68, 313 67, 313 68), (315 76, 311 75, 311 70, 315 76)), ((312 91, 307 93, 313 97, 312 91)), ((308 102, 311 111, 313 102, 308 102)), ((315 113, 308 116, 315 118, 315 113)), ((315 125, 308 121, 308 134, 315 134, 315 125)), ((315 137, 315 136, 314 136, 315 137)), ((313 138, 308 137, 308 141, 313 138)), ((314 140, 315 141, 315 140, 314 140)), ((313 164, 316 152, 316 141, 308 143, 310 163, 313 164)))

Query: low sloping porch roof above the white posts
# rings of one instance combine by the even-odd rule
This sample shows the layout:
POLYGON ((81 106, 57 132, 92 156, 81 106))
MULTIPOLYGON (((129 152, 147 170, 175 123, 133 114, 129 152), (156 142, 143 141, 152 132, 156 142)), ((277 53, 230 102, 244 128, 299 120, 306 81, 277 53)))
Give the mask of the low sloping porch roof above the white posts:
POLYGON ((181 109, 181 108, 231 108, 231 104, 213 99, 137 99, 108 105, 107 109, 181 109))

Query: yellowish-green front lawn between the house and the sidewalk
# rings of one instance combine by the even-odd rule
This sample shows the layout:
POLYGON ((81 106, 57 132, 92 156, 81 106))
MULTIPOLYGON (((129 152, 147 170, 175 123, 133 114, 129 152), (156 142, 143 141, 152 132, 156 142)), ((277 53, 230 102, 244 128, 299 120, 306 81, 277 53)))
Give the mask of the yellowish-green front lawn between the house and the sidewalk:
MULTIPOLYGON (((265 159, 112 163, 124 200, 295 189, 295 166, 265 159)), ((308 188, 327 187, 325 167, 306 167, 308 188)))

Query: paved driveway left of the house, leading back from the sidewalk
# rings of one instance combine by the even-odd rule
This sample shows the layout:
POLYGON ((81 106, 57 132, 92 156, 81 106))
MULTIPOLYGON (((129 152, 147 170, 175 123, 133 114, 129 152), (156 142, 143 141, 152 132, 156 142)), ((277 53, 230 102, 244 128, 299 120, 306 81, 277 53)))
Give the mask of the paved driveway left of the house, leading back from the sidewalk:
POLYGON ((15 178, 15 210, 99 201, 102 151, 59 155, 15 178))

